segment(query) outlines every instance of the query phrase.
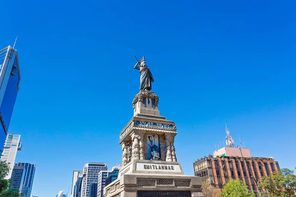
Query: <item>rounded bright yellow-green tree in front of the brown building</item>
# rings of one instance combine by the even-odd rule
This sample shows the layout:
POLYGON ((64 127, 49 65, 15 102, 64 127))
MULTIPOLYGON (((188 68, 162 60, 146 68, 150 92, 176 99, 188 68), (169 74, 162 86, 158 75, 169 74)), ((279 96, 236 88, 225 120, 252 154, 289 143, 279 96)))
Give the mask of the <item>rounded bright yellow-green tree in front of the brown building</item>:
POLYGON ((241 180, 230 179, 220 193, 221 197, 255 197, 241 180))

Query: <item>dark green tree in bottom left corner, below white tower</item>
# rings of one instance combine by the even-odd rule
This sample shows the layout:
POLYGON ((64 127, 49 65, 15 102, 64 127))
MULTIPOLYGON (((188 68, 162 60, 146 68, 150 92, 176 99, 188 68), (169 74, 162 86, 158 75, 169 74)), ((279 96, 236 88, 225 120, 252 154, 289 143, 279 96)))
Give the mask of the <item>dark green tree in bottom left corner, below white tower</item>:
MULTIPOLYGON (((1 150, 0 150, 1 154, 1 150)), ((0 161, 0 196, 2 197, 21 197, 18 189, 10 188, 10 180, 4 179, 9 172, 9 166, 6 162, 0 161)))

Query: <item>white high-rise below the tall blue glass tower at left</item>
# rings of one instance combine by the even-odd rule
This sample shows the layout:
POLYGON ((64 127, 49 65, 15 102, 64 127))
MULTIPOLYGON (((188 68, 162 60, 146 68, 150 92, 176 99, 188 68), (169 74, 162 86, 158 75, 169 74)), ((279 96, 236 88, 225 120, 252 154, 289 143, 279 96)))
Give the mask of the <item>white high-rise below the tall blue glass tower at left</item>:
POLYGON ((14 134, 8 134, 5 139, 3 152, 0 159, 1 161, 5 161, 10 168, 7 176, 5 176, 5 179, 10 179, 11 177, 16 153, 18 150, 21 150, 22 147, 22 142, 20 142, 20 139, 21 135, 14 134))

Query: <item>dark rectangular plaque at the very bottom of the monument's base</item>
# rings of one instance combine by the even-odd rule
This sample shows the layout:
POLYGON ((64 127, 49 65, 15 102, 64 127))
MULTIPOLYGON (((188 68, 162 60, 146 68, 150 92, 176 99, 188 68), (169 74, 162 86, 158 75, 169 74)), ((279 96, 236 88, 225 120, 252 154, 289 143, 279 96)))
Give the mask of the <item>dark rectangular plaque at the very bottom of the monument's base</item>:
POLYGON ((138 191, 138 197, 191 197, 190 191, 138 191))

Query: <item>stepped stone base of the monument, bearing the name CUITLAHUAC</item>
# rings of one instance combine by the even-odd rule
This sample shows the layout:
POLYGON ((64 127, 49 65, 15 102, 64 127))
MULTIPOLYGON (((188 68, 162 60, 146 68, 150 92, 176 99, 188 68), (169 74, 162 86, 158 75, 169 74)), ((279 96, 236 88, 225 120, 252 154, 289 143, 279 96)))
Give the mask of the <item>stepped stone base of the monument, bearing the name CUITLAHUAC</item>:
POLYGON ((179 162, 133 160, 104 188, 104 197, 203 197, 201 178, 184 175, 179 162))

